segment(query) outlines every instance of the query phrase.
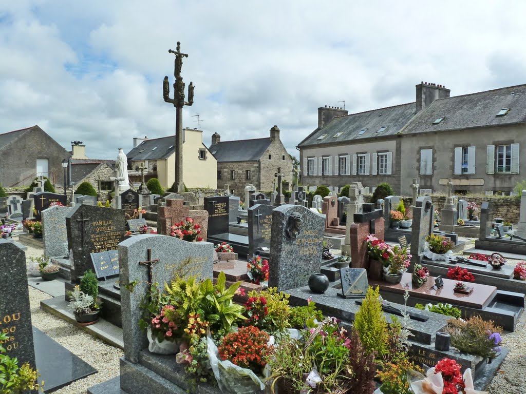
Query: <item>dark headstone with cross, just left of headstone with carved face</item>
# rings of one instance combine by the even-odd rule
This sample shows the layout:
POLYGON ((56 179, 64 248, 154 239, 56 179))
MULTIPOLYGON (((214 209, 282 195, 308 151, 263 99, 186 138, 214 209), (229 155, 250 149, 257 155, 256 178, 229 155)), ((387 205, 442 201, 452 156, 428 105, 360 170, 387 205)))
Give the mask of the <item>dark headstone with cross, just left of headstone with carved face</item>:
POLYGON ((272 210, 274 208, 268 204, 256 204, 247 209, 249 256, 254 254, 257 248, 270 248, 272 210))

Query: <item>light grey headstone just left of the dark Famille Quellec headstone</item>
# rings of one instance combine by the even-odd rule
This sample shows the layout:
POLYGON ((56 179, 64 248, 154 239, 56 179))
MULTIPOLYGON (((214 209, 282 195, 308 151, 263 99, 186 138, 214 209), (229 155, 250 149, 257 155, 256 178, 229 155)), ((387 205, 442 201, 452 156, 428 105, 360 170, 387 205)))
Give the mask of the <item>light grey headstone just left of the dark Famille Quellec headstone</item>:
POLYGON ((66 215, 69 206, 50 206, 42 211, 42 239, 44 254, 50 257, 64 257, 64 242, 67 242, 66 215))

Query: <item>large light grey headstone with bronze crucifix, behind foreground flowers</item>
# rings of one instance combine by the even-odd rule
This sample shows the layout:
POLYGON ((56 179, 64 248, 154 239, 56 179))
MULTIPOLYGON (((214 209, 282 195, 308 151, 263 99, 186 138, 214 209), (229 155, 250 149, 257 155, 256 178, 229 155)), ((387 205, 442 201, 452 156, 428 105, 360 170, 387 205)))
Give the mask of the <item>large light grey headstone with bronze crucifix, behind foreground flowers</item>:
POLYGON ((211 279, 214 269, 214 245, 209 242, 186 242, 167 235, 143 234, 119 244, 124 357, 134 363, 139 361, 140 350, 148 347, 146 335, 139 329, 143 314, 139 305, 148 290, 148 267, 139 262, 148 260, 148 250, 151 250, 152 260, 159 260, 152 265, 151 274, 152 282, 161 288, 176 274, 211 279), (130 283, 136 283, 133 292, 126 286, 130 283))

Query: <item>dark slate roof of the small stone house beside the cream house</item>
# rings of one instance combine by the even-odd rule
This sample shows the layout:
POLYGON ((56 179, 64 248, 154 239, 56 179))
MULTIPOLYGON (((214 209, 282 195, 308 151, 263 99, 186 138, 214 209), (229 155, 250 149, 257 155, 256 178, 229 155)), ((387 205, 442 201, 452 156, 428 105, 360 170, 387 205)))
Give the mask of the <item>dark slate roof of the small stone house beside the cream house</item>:
POLYGON ((255 161, 261 158, 270 146, 270 138, 256 138, 252 140, 221 141, 210 145, 208 150, 218 162, 224 161, 255 161))

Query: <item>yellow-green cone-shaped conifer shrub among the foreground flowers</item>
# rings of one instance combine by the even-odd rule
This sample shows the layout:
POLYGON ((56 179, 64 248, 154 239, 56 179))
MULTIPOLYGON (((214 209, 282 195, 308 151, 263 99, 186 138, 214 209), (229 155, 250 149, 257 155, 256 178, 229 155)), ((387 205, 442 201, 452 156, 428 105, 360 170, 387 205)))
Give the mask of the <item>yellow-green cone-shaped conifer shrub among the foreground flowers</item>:
POLYGON ((371 286, 367 289, 365 299, 355 315, 354 327, 367 353, 376 351, 376 358, 381 359, 387 352, 388 331, 378 286, 376 289, 371 286))

